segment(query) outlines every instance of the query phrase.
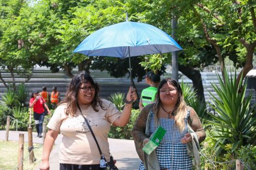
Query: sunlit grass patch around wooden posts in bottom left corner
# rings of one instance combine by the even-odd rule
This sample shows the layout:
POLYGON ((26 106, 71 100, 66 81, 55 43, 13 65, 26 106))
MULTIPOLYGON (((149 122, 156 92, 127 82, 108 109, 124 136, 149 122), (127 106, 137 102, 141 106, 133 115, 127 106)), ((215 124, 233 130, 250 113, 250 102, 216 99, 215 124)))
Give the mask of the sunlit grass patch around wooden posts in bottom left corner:
MULTIPOLYGON (((33 170, 42 157, 42 145, 34 143, 34 156, 36 161, 29 164, 28 143, 24 143, 24 170, 33 170), (38 149, 37 149, 38 148, 38 149)), ((14 170, 18 165, 18 142, 17 141, 0 141, 0 170, 14 170)), ((17 169, 17 168, 16 168, 17 169)))

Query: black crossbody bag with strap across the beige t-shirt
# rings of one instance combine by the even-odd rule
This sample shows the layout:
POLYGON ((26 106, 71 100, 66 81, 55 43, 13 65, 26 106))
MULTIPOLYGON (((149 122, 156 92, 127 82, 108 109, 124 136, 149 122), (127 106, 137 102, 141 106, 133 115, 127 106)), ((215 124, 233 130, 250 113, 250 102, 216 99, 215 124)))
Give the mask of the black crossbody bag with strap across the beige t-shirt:
POLYGON ((90 129, 92 135, 93 135, 93 138, 97 144, 97 147, 98 147, 98 150, 99 150, 99 154, 101 155, 100 156, 100 167, 103 169, 103 170, 118 170, 118 168, 116 167, 115 163, 116 163, 116 160, 114 160, 113 156, 110 154, 110 161, 109 162, 106 162, 106 159, 104 157, 104 155, 102 155, 102 152, 101 152, 101 149, 99 147, 99 143, 93 133, 93 130, 90 126, 90 124, 88 123, 88 120, 86 119, 86 117, 84 117, 84 115, 82 114, 82 111, 80 109, 80 107, 78 106, 78 109, 80 110, 81 112, 81 115, 82 117, 84 118, 84 120, 86 121, 86 124, 88 126, 88 128, 90 129))

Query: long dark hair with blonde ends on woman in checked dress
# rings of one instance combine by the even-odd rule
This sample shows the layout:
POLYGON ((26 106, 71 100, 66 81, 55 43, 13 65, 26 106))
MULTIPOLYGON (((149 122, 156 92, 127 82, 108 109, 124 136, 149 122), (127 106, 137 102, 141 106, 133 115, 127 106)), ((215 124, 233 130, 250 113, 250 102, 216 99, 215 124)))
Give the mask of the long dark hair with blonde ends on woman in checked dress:
POLYGON ((185 103, 184 98, 183 98, 183 93, 182 93, 182 89, 181 89, 180 84, 175 79, 172 79, 172 78, 163 79, 158 85, 157 95, 156 95, 156 102, 153 105, 153 110, 154 110, 154 113, 155 113, 155 123, 157 123, 157 124, 159 123, 159 121, 158 121, 159 116, 158 115, 159 115, 159 110, 160 110, 160 107, 161 107, 160 89, 167 82, 172 84, 176 88, 176 90, 179 94, 178 95, 178 100, 175 104, 175 109, 174 109, 175 126, 177 128, 179 128, 180 131, 183 131, 185 129, 184 118, 187 115, 186 103, 185 103))

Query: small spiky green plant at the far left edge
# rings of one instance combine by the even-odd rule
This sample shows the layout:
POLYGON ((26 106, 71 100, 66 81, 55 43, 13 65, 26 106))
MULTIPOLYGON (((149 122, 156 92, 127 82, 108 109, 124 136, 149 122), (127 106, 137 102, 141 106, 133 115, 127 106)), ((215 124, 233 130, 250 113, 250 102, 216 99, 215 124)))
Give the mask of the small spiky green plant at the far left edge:
POLYGON ((1 104, 7 106, 10 109, 18 105, 17 95, 15 92, 11 89, 8 89, 2 97, 1 104))

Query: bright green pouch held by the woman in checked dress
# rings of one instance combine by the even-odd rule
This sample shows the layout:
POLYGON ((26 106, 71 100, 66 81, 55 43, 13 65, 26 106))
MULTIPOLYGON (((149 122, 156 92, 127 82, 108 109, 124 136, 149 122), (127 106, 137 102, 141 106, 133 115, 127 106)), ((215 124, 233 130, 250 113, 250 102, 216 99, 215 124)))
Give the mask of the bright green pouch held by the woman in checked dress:
POLYGON ((166 130, 159 126, 157 130, 150 136, 150 140, 144 145, 142 151, 144 151, 147 155, 150 155, 162 141, 165 132, 166 130))

